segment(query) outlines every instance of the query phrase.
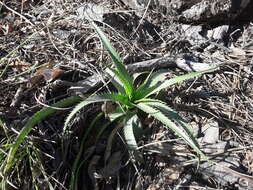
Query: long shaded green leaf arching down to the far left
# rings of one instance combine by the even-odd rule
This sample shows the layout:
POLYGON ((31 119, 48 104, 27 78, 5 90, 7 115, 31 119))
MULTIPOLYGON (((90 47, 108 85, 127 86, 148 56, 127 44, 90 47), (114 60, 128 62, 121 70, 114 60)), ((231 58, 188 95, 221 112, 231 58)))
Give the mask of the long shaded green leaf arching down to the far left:
MULTIPOLYGON (((53 107, 59 107, 59 108, 64 108, 70 105, 73 105, 77 102, 80 102, 81 98, 80 97, 69 97, 66 99, 63 99, 57 103, 55 103, 53 105, 53 107)), ((30 133, 30 131, 32 130, 32 128, 38 124, 40 121, 42 121, 43 119, 45 119, 47 116, 52 115, 53 113, 55 113, 57 111, 57 109, 51 108, 51 107, 47 107, 47 108, 43 108, 42 110, 38 111, 37 113, 35 113, 29 120, 28 122, 25 124, 25 126, 22 128, 22 130, 20 131, 19 135, 17 136, 17 139, 14 143, 14 145, 11 147, 9 153, 8 153, 8 157, 7 157, 7 163, 4 169, 4 172, 8 172, 11 167, 14 164, 14 158, 15 158, 15 154, 20 146, 20 144, 24 141, 25 137, 30 133)))

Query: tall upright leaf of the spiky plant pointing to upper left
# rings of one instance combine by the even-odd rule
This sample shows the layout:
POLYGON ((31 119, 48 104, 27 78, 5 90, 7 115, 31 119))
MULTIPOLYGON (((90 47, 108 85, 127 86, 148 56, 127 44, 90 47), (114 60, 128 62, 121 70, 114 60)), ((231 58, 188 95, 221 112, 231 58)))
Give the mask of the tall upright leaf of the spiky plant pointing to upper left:
POLYGON ((112 47, 110 41, 107 39, 103 31, 94 22, 92 22, 92 25, 112 58, 113 64, 116 67, 116 70, 113 70, 113 72, 119 77, 120 81, 123 83, 128 96, 132 97, 134 92, 132 77, 127 72, 126 67, 120 59, 118 53, 112 47))

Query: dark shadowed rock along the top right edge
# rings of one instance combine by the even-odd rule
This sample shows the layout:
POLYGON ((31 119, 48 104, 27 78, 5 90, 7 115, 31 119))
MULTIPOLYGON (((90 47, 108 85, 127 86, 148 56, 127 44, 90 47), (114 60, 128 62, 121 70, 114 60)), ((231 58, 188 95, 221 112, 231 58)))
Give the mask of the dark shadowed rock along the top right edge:
MULTIPOLYGON (((131 8, 145 8, 149 0, 131 0, 131 8)), ((184 23, 229 23, 234 20, 250 20, 253 1, 250 0, 152 0, 152 6, 166 7, 184 23), (173 11, 171 11, 173 10, 173 11)), ((174 16, 175 16, 174 15, 174 16)))

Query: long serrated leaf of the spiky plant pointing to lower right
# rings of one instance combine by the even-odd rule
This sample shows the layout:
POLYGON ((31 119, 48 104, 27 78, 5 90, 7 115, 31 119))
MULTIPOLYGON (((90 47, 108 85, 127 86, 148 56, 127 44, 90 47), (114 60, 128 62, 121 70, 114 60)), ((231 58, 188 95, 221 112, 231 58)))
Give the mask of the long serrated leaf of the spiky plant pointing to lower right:
POLYGON ((153 116, 154 118, 165 124, 171 130, 173 130, 179 137, 183 138, 187 142, 187 144, 191 146, 198 154, 203 155, 203 153, 199 149, 199 145, 196 143, 196 140, 192 138, 191 134, 188 134, 187 131, 177 127, 176 124, 173 123, 168 118, 168 116, 166 116, 163 113, 165 110, 160 110, 159 106, 154 108, 153 106, 150 106, 147 103, 138 103, 136 107, 150 114, 151 116, 153 116))

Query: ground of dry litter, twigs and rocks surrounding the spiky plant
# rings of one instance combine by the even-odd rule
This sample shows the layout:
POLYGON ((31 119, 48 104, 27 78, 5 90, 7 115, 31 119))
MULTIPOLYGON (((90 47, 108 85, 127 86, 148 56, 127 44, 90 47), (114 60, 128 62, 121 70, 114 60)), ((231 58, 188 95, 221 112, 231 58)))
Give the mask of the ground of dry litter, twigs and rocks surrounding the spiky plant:
POLYGON ((0 1, 0 179, 7 179, 6 188, 253 189, 252 10, 250 0, 0 1), (130 159, 120 131, 112 139, 113 128, 96 142, 95 129, 83 143, 87 126, 102 112, 96 105, 79 113, 67 137, 62 128, 69 110, 40 122, 6 177, 8 147, 29 117, 103 87, 103 70, 111 63, 90 19, 131 73, 165 69, 173 77, 218 68, 163 94, 217 165, 198 162, 156 121, 147 121, 138 138, 143 163, 130 159))

